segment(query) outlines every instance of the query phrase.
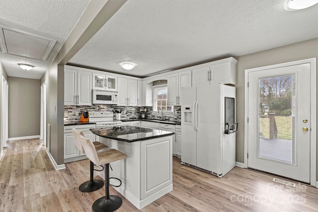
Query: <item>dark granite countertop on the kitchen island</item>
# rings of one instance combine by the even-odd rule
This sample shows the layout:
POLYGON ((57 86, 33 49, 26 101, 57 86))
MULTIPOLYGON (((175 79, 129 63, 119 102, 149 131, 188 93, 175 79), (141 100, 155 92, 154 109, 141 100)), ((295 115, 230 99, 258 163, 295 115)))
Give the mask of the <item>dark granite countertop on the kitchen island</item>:
POLYGON ((134 126, 95 128, 90 131, 100 137, 117 141, 135 142, 170 136, 174 133, 134 126))

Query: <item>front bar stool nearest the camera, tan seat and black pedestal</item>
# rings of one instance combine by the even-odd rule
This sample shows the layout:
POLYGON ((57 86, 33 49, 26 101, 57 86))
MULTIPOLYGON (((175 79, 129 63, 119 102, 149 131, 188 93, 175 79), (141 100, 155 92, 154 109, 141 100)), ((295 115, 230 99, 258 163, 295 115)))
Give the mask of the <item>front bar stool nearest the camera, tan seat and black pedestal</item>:
MULTIPOLYGON (((113 212, 119 209, 121 204, 123 203, 122 199, 115 195, 109 195, 109 163, 126 159, 127 155, 117 149, 108 149, 106 151, 96 152, 93 142, 89 139, 86 139, 83 136, 79 136, 79 140, 83 148, 85 149, 86 156, 93 161, 96 165, 105 164, 105 197, 101 197, 96 200, 93 205, 92 209, 94 212, 113 212)), ((114 177, 112 177, 114 178, 114 177)), ((120 181, 118 178, 114 178, 120 181)), ((120 186, 119 185, 119 186, 120 186)), ((111 185, 114 186, 114 185, 111 185)), ((119 187, 114 186, 114 187, 119 187)))

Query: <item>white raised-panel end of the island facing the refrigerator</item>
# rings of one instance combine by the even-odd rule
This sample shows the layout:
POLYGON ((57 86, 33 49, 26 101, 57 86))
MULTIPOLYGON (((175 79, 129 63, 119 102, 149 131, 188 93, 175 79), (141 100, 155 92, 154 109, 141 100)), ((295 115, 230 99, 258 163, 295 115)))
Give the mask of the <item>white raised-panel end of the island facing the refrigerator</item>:
POLYGON ((172 183, 172 149, 171 142, 142 142, 142 199, 160 191, 172 183), (159 159, 160 158, 160 159, 159 159))

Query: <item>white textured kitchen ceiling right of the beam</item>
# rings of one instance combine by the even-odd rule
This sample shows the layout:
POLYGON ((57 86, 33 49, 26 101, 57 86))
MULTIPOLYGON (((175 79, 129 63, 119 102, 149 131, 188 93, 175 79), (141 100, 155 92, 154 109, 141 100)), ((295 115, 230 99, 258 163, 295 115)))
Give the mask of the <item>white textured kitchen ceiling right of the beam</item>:
POLYGON ((318 5, 284 0, 128 0, 70 61, 136 76, 318 37, 318 5), (119 64, 133 62, 125 71, 119 64))

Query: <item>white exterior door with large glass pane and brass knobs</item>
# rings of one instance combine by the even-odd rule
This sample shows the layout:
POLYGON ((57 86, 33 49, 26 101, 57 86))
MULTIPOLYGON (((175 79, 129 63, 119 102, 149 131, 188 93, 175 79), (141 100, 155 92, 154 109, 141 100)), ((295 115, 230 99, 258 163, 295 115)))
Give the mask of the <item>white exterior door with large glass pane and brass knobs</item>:
POLYGON ((248 72, 248 167, 310 182, 310 63, 248 72))

